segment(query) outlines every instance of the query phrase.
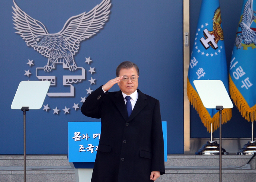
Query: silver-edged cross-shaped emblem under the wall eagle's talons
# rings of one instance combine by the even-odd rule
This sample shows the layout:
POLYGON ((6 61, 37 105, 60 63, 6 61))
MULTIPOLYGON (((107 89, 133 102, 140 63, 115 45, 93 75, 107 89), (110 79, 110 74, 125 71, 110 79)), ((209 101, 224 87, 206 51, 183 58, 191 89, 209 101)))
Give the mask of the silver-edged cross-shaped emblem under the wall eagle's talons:
POLYGON ((70 71, 64 63, 55 63, 55 67, 51 72, 45 72, 43 67, 36 68, 38 79, 51 82, 47 95, 49 97, 74 97, 72 83, 85 80, 85 69, 77 67, 75 71, 70 71), (62 85, 60 85, 61 76, 62 85))

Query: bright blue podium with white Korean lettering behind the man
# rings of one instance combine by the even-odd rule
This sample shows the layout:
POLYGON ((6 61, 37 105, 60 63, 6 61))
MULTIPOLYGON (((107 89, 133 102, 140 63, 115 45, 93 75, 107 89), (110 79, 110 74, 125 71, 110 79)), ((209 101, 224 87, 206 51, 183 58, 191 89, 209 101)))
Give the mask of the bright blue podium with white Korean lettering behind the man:
MULTIPOLYGON (((162 121, 164 161, 167 161, 167 127, 162 121)), ((68 122, 68 162, 76 182, 90 182, 100 140, 101 122, 68 122)))

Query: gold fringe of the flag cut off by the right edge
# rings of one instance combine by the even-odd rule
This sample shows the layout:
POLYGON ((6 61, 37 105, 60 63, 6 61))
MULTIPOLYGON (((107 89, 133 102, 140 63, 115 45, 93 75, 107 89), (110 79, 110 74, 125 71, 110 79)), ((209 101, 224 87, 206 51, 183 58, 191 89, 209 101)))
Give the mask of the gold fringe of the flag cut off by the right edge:
POLYGON ((240 93, 240 91, 237 89, 236 85, 232 81, 230 75, 229 75, 229 90, 230 90, 230 96, 233 99, 236 107, 240 111, 241 115, 247 120, 247 121, 255 121, 256 120, 256 105, 253 107, 249 107, 248 103, 240 93))

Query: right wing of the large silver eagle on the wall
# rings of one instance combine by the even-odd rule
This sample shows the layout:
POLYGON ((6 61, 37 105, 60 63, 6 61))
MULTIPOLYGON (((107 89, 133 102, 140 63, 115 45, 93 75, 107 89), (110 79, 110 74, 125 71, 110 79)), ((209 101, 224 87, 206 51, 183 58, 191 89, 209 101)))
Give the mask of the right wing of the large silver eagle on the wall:
POLYGON ((90 12, 72 16, 58 33, 66 38, 70 44, 72 54, 75 54, 82 40, 92 37, 108 20, 110 0, 102 0, 90 12))

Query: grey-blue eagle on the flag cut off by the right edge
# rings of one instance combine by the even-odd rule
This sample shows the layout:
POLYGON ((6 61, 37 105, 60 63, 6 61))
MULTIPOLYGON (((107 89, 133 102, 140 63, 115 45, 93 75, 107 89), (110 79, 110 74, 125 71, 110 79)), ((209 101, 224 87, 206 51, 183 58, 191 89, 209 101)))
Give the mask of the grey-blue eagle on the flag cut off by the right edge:
POLYGON ((242 41, 244 44, 256 44, 256 32, 250 28, 252 22, 256 19, 256 11, 252 10, 252 0, 248 0, 244 5, 244 12, 242 15, 242 21, 239 24, 239 27, 242 29, 242 32, 239 36, 236 37, 236 49, 242 47, 242 41))

